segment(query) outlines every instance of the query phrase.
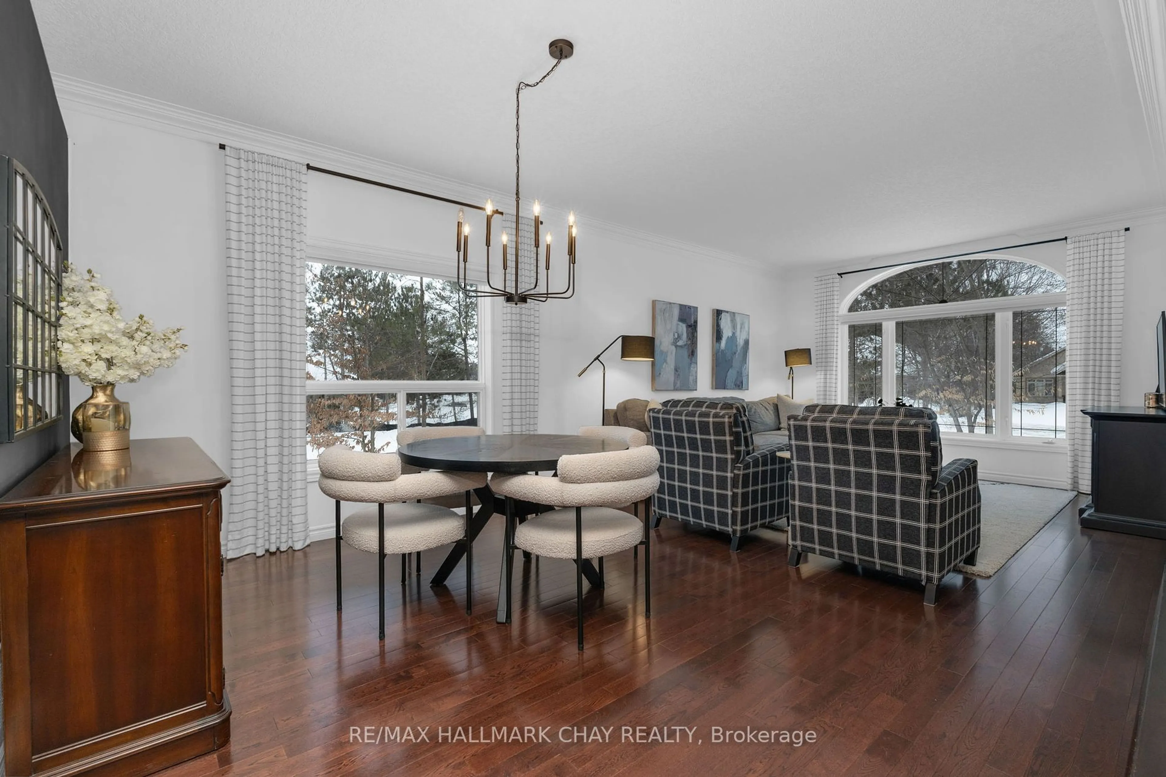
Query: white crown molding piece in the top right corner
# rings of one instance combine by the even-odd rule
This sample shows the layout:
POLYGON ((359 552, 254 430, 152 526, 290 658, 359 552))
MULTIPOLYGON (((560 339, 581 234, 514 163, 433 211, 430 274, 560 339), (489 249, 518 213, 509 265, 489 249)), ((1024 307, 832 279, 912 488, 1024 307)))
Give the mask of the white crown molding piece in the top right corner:
POLYGON ((1166 2, 1119 0, 1118 6, 1158 181, 1166 189, 1166 2))

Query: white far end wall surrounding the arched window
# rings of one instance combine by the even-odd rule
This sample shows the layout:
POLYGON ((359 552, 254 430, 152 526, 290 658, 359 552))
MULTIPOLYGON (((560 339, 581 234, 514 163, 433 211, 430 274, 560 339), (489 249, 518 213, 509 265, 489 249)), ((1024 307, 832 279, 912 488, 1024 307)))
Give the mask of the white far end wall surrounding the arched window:
MULTIPOLYGON (((1072 233, 1093 232, 1100 229, 1117 229, 1114 226, 1068 230, 1072 233)), ((1061 232, 1063 235, 1065 232, 1061 232)), ((999 236, 979 240, 976 244, 940 246, 929 251, 915 252, 899 257, 880 257, 864 262, 866 266, 888 265, 897 261, 926 259, 934 256, 962 253, 992 249, 1000 245, 1014 245, 1055 236, 999 236)), ((1035 261, 1046 267, 1065 273, 1066 245, 1052 243, 1027 249, 1013 249, 1007 256, 1035 261)), ((837 270, 861 268, 863 264, 837 270)), ((791 300, 786 309, 786 329, 799 338, 814 337, 814 276, 827 270, 801 268, 787 276, 786 296, 791 300)), ((840 285, 840 296, 843 301, 854 290, 865 286, 878 272, 862 272, 847 275, 840 285)), ((1142 405, 1143 393, 1152 391, 1157 384, 1157 343, 1154 326, 1158 314, 1166 309, 1166 219, 1140 222, 1125 233, 1125 331, 1122 348, 1122 402, 1142 405)), ((807 382, 813 380, 813 368, 803 368, 807 382)), ((799 372, 799 379, 801 379, 799 372)), ((981 475, 990 480, 1033 485, 1067 487, 1068 456, 1063 447, 1041 443, 1016 443, 1006 447, 984 444, 961 444, 950 438, 943 441, 946 460, 955 457, 977 459, 981 462, 981 475)))

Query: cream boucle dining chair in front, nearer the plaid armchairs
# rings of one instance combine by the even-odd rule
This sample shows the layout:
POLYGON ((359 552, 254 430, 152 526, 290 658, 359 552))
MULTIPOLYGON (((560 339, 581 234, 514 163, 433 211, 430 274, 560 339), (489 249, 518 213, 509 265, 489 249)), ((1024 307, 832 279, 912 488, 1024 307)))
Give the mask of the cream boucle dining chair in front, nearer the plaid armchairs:
POLYGON ((652 617, 652 555, 647 516, 618 508, 655 494, 660 456, 639 446, 611 453, 577 454, 559 460, 557 475, 494 475, 494 494, 506 497, 506 622, 511 616, 514 550, 553 559, 575 560, 578 646, 583 650, 583 560, 644 545, 644 616, 652 617), (559 510, 514 526, 513 502, 522 499, 559 510))

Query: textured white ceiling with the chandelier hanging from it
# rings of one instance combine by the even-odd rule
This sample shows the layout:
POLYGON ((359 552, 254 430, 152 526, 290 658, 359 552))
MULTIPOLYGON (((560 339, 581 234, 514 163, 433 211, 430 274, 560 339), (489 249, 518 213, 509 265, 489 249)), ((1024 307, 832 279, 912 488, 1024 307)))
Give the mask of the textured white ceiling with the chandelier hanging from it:
POLYGON ((56 72, 501 201, 515 82, 541 76, 547 43, 569 37, 575 57, 524 92, 524 194, 791 265, 1160 205, 1116 2, 33 7, 56 72))

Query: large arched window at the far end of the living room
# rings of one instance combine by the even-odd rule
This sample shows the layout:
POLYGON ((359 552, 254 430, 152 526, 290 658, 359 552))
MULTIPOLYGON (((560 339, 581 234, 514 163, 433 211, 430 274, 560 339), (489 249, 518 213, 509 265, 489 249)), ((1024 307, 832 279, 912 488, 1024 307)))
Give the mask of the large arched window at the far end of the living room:
POLYGON ((930 407, 947 433, 1065 438, 1065 279, 1009 257, 916 265, 841 314, 848 400, 930 407))

